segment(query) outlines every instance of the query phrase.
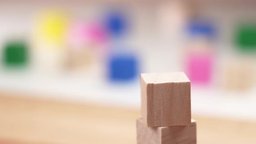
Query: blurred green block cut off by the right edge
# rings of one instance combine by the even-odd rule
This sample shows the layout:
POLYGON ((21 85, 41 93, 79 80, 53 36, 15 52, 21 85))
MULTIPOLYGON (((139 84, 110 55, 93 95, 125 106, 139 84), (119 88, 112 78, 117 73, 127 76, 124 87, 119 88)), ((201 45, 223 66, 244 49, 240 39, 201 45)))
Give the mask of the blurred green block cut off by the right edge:
POLYGON ((256 24, 244 24, 236 30, 236 46, 243 50, 256 50, 256 24))

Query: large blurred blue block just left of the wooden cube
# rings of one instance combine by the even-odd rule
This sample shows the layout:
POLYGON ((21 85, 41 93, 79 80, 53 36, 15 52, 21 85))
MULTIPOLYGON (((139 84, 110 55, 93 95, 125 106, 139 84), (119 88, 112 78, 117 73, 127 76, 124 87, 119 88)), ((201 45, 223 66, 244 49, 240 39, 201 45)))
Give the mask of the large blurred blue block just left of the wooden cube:
POLYGON ((112 81, 127 81, 138 75, 138 61, 134 55, 112 55, 108 68, 112 81))

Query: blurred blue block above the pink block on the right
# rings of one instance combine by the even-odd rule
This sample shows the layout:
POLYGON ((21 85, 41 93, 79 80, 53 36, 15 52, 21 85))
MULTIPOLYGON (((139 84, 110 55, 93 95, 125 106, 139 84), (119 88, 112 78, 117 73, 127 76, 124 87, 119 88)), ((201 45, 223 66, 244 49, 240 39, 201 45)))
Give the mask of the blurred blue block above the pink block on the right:
POLYGON ((187 27, 190 36, 205 36, 213 39, 216 36, 214 24, 207 20, 192 20, 187 27))

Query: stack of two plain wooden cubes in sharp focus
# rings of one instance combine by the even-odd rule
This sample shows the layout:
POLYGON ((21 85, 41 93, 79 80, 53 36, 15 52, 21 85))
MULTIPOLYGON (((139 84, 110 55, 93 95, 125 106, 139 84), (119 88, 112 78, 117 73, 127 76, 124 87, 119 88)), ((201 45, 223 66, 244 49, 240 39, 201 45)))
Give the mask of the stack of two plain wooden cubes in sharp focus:
POLYGON ((196 144, 190 80, 183 72, 141 74, 137 144, 196 144))

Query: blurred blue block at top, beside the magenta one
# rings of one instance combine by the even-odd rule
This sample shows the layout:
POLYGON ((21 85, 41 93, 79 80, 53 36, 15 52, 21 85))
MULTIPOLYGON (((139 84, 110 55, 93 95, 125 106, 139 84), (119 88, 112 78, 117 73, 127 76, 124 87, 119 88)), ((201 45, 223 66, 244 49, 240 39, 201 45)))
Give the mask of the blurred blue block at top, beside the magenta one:
POLYGON ((112 36, 121 36, 127 29, 127 17, 120 11, 111 11, 105 18, 105 27, 112 36))

